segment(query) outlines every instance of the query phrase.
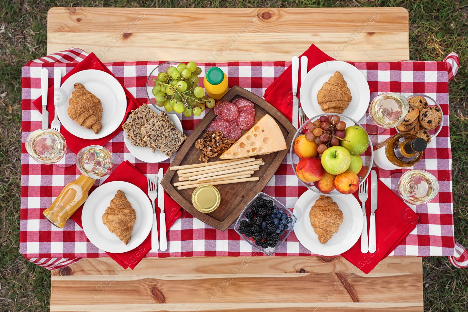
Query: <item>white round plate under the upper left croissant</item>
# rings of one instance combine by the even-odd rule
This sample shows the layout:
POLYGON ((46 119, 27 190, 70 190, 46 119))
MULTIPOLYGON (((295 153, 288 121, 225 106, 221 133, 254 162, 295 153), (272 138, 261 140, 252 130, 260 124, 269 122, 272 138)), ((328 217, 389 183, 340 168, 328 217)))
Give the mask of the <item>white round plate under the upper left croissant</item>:
POLYGON ((122 85, 109 73, 96 69, 74 73, 65 80, 59 93, 62 94, 62 101, 57 104, 57 115, 65 129, 78 138, 91 140, 111 134, 120 126, 127 110, 127 98, 122 85), (68 99, 72 96, 75 90, 73 85, 77 82, 101 100, 102 129, 97 134, 92 129, 80 126, 68 116, 68 99))

